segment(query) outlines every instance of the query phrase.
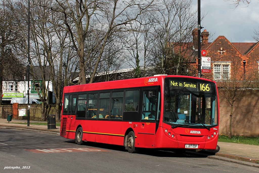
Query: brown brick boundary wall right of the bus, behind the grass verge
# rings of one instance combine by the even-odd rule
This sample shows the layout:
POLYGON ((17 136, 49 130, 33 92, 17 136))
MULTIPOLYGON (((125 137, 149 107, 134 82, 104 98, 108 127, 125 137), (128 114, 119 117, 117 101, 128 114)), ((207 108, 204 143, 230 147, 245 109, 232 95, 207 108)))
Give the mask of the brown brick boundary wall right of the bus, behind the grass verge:
MULTIPOLYGON (((231 105, 219 95, 219 134, 228 134, 231 105), (224 101, 225 100, 225 101, 224 101)), ((233 136, 259 136, 259 90, 244 91, 234 103, 232 115, 233 136)))

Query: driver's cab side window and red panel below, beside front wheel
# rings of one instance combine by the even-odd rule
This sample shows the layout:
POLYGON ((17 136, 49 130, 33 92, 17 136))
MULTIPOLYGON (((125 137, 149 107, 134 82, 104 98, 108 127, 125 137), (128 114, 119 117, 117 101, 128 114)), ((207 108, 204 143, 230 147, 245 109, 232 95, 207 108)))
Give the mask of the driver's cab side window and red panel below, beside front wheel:
POLYGON ((143 102, 141 110, 141 124, 138 137, 142 147, 155 147, 155 131, 157 119, 158 89, 145 88, 143 90, 143 102))

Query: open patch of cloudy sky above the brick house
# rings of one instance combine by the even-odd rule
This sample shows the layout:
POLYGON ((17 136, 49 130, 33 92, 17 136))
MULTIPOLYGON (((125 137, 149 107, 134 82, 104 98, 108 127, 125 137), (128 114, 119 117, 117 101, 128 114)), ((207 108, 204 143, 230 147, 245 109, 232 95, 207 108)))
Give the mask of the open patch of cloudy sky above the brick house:
MULTIPOLYGON (((200 0, 201 14, 206 14, 201 22, 209 33, 215 33, 209 41, 225 36, 230 42, 256 42, 254 30, 259 31, 259 1, 251 0, 248 7, 240 5, 236 9, 232 2, 224 0, 200 0)), ((197 0, 193 0, 197 9, 197 0)), ((201 30, 201 31, 203 31, 201 30)))

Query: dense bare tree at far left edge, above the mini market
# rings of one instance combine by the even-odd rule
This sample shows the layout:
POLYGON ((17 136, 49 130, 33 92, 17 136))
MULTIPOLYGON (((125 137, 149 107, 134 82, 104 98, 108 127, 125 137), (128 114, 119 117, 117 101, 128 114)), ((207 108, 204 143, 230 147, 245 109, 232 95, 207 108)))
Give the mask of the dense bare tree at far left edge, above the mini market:
POLYGON ((23 11, 19 2, 0 1, 0 104, 2 103, 3 81, 24 78, 23 11))

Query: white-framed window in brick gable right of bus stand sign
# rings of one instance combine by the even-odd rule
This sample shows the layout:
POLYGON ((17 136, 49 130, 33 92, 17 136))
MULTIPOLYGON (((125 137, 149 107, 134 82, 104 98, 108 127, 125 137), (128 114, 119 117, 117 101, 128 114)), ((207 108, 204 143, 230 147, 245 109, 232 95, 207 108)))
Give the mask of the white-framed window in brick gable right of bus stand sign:
POLYGON ((214 79, 229 79, 229 64, 215 64, 214 79))

